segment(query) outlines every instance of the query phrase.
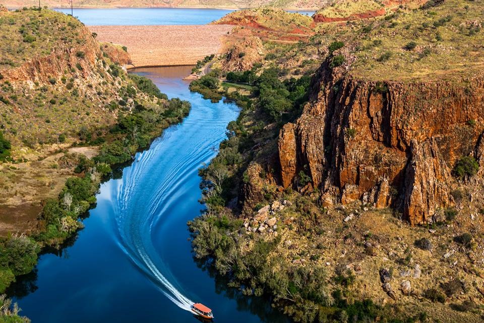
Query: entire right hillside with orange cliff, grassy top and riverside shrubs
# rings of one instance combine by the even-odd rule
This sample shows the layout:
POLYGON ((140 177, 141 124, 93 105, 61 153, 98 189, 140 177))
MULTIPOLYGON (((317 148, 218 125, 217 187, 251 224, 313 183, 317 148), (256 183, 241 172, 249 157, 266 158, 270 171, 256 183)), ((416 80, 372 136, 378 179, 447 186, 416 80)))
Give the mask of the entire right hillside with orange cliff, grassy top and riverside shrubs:
POLYGON ((482 1, 330 7, 295 43, 279 14, 226 37, 217 91, 243 112, 194 251, 295 321, 480 322, 482 1))

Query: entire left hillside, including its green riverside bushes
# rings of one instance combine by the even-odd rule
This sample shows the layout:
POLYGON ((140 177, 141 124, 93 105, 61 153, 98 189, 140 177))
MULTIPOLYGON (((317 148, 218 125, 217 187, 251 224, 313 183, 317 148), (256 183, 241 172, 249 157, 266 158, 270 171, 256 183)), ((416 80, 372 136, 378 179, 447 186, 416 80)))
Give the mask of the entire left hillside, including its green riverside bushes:
POLYGON ((96 37, 55 11, 0 7, 0 293, 76 236, 111 167, 190 111, 96 37))

